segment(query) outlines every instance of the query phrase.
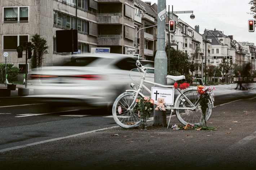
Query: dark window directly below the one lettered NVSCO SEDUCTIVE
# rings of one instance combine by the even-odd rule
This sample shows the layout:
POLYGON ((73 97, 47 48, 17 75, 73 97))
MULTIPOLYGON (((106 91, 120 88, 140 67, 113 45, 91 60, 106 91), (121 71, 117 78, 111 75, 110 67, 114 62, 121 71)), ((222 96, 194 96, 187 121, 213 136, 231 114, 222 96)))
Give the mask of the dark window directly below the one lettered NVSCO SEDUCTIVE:
POLYGON ((23 42, 28 42, 28 35, 3 35, 3 51, 16 51, 23 42))

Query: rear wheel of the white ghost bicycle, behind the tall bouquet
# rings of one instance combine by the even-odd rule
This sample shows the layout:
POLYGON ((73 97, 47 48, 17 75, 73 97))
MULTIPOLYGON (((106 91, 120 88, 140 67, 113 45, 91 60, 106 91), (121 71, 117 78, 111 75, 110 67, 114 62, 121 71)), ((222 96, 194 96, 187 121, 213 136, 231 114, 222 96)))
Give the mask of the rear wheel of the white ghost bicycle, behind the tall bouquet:
MULTIPOLYGON (((198 93, 196 90, 190 90, 184 92, 184 95, 181 95, 176 102, 176 108, 191 108, 191 109, 176 109, 176 117, 177 119, 183 124, 199 124, 200 117, 202 115, 202 109, 198 101, 198 93), (185 97, 185 96, 186 97, 185 97), (195 106, 194 109, 193 105, 188 102, 188 100, 195 106)), ((209 99, 208 101, 208 108, 206 110, 206 119, 208 120, 212 114, 212 100, 209 99)))

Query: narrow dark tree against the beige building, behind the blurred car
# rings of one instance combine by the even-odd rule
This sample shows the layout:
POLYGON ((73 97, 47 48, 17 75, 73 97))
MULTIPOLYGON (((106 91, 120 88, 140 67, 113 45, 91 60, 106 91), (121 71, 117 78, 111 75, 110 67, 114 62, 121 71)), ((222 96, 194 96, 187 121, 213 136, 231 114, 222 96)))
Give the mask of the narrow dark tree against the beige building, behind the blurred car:
POLYGON ((31 68, 39 68, 42 66, 43 56, 48 54, 47 49, 47 41, 45 38, 41 37, 37 33, 32 36, 32 49, 34 50, 34 54, 31 58, 31 68))

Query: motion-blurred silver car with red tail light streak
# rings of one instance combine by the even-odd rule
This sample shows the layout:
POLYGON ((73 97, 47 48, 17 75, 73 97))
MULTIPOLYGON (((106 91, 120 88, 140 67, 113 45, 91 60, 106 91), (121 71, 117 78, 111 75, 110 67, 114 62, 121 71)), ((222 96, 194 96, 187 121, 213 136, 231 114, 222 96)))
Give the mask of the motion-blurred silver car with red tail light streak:
MULTIPOLYGON (((33 70, 32 96, 52 104, 112 107, 118 95, 131 89, 131 82, 140 82, 136 60, 131 55, 122 54, 74 55, 62 66, 33 70)), ((141 63, 154 67, 153 61, 141 60, 141 63)), ((150 71, 148 80, 154 81, 154 70, 150 71)))

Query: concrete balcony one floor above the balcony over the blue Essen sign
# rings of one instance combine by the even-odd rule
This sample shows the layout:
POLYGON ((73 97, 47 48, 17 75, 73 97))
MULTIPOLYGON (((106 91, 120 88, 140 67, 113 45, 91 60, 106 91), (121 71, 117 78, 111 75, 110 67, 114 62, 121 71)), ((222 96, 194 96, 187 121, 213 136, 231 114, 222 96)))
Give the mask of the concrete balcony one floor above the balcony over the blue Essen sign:
POLYGON ((97 20, 101 21, 101 24, 122 24, 123 17, 120 13, 102 13, 97 14, 97 20))

